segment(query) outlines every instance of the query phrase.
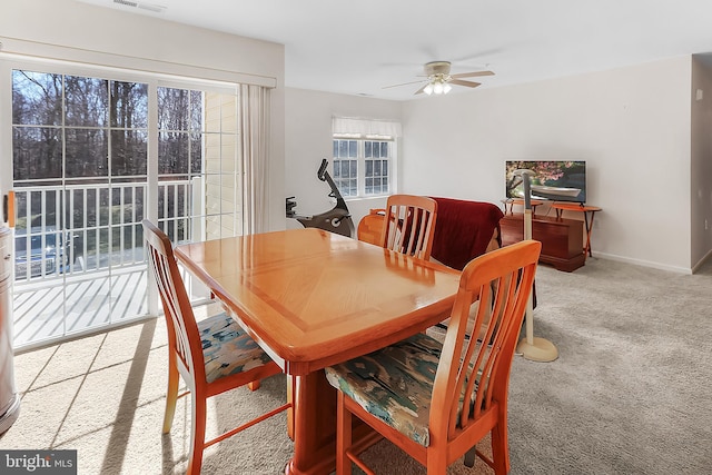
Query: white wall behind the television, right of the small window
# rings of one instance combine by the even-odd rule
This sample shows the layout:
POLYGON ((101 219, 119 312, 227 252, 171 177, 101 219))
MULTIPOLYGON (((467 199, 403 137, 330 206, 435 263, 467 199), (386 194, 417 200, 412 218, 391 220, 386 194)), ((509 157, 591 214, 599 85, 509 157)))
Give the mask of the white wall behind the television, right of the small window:
POLYGON ((586 160, 593 255, 689 273, 690 88, 682 57, 408 101, 403 189, 500 204, 506 160, 586 160))

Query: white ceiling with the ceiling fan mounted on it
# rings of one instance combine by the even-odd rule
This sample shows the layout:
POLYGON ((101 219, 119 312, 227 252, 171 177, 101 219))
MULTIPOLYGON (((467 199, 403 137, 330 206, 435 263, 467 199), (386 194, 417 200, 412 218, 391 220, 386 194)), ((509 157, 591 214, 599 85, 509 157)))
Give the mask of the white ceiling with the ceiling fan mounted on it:
POLYGON ((394 100, 434 60, 488 88, 712 51, 710 0, 80 1, 283 43, 287 87, 394 100))

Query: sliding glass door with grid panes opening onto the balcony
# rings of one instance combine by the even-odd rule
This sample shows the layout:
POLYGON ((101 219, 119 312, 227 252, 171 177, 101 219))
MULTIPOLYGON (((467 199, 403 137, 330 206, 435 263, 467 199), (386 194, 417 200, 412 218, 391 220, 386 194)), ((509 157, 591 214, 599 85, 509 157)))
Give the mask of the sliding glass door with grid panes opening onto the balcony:
POLYGON ((2 75, 16 347, 149 314, 144 218, 175 243, 243 232, 236 85, 40 62, 2 75))

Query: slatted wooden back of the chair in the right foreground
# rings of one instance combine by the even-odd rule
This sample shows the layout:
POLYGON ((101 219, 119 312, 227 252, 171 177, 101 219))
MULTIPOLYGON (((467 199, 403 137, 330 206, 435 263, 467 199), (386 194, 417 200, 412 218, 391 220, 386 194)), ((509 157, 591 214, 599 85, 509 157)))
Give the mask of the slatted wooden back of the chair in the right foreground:
POLYGON ((432 407, 438 409, 431 410, 429 431, 435 444, 429 447, 428 458, 439 457, 447 465, 474 449, 473 441, 493 431, 493 459, 477 455, 497 473, 508 472, 510 372, 541 247, 535 240, 521 241, 465 266, 433 386, 432 407), (472 335, 481 338, 467 337, 474 300, 479 305, 472 335))

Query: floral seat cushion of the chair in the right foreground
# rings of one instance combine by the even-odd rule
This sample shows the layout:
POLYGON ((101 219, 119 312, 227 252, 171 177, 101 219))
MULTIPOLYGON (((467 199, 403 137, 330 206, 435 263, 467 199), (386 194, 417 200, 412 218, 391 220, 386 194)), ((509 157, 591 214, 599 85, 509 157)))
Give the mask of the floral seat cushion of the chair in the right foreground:
POLYGON ((431 397, 442 345, 417 334, 327 367, 326 378, 374 416, 428 446, 431 397))

